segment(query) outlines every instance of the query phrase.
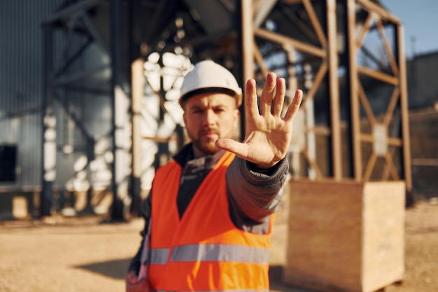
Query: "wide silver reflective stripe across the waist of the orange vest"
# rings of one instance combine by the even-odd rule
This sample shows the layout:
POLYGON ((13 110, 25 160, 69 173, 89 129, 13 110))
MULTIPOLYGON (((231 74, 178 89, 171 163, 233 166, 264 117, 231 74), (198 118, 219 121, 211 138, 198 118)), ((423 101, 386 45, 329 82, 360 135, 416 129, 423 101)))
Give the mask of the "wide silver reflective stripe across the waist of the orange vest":
MULTIPOLYGON (((150 263, 165 265, 170 249, 152 249, 150 263)), ((171 262, 222 261, 239 263, 269 263, 269 249, 236 244, 188 244, 175 246, 171 262)))

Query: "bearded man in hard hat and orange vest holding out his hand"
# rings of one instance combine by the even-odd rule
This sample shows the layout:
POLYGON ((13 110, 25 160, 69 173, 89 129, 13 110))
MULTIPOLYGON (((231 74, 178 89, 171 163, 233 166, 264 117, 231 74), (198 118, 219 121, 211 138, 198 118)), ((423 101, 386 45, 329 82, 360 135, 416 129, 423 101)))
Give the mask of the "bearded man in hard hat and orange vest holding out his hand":
MULTIPOLYGON (((297 90, 282 116, 285 80, 269 73, 257 107, 246 83, 246 133, 239 123, 241 88, 210 60, 183 81, 180 104, 191 142, 157 169, 143 204, 150 225, 147 279, 139 279, 141 249, 129 265, 126 291, 268 291, 274 211, 288 172, 285 158, 297 90)), ((143 242, 148 228, 143 231, 143 242)))

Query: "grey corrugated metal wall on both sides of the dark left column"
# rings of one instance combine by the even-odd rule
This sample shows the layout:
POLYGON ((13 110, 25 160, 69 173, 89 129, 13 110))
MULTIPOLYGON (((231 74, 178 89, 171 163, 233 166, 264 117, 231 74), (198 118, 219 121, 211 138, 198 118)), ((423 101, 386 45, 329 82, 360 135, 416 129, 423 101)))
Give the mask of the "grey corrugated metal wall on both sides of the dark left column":
MULTIPOLYGON (((0 1, 0 146, 17 146, 16 180, 0 181, 0 193, 35 190, 41 186, 42 25, 64 2, 0 1)), ((91 17, 109 46, 108 2, 94 7, 91 17)), ((64 84, 69 88, 50 85, 57 144, 53 186, 70 191, 87 190, 91 184, 94 190, 103 190, 110 187, 112 176, 111 58, 99 43, 90 43, 87 34, 67 31, 70 25, 60 29, 51 24, 50 74, 54 76, 68 62, 66 70, 54 78, 74 79, 64 84), (79 57, 69 62, 74 55, 79 57)), ((122 167, 129 169, 129 163, 122 167)))

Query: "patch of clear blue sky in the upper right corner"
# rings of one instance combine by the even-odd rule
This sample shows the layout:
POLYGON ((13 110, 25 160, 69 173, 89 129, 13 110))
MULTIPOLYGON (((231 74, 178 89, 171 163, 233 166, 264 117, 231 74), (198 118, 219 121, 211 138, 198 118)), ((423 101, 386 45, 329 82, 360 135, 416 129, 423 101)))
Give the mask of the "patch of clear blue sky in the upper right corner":
POLYGON ((381 4, 402 21, 408 59, 438 52, 438 0, 381 0, 381 4))

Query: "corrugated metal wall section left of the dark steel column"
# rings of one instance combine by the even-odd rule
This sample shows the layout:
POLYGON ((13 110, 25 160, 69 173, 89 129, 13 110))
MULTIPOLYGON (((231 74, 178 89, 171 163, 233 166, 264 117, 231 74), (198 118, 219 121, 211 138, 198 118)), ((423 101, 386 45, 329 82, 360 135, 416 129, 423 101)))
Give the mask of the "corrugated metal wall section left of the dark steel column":
POLYGON ((17 181, 0 186, 41 184, 41 22, 62 2, 0 1, 0 144, 18 147, 17 181))

